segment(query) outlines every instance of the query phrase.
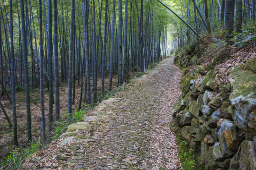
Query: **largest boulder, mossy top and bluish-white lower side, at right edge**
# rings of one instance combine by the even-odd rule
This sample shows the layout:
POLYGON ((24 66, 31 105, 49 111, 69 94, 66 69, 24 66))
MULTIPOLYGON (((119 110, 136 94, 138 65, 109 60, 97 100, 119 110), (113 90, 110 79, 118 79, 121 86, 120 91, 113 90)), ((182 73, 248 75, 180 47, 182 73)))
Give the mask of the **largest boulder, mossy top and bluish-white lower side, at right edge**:
POLYGON ((256 74, 234 66, 229 81, 232 118, 239 128, 256 136, 256 74))

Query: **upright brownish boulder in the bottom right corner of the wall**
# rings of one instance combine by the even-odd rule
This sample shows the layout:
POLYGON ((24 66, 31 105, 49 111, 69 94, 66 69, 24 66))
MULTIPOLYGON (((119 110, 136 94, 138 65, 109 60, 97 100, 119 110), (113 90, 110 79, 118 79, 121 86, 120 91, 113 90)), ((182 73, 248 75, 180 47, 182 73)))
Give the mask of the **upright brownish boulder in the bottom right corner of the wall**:
POLYGON ((253 141, 241 143, 240 170, 256 170, 256 148, 253 141))

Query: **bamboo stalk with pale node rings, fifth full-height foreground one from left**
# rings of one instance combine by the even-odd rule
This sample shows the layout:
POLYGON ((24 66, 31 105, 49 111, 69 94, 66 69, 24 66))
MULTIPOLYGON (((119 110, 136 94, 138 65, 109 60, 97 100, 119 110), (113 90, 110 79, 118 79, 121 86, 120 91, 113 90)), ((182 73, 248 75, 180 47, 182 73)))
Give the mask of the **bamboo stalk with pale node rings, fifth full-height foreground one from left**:
POLYGON ((60 119, 59 55, 58 55, 58 21, 57 0, 53 0, 54 22, 54 85, 55 85, 55 121, 60 119))

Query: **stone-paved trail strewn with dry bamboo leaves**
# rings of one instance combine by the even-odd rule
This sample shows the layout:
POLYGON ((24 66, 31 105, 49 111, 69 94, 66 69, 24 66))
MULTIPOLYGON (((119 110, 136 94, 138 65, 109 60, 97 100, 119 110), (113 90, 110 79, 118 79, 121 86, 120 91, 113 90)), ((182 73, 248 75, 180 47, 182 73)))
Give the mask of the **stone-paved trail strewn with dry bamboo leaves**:
POLYGON ((181 71, 168 58, 100 103, 23 169, 178 170, 169 129, 181 71), (78 129, 77 129, 78 128, 78 129))

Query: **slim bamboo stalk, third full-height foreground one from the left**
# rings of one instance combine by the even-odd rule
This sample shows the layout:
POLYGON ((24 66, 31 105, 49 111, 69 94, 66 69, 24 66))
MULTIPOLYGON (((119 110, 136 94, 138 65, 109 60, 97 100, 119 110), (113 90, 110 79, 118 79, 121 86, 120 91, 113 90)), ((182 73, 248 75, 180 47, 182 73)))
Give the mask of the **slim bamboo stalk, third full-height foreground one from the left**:
POLYGON ((42 0, 39 0, 39 32, 40 32, 40 101, 41 101, 41 119, 43 141, 46 141, 46 121, 44 106, 44 40, 42 23, 42 0))

